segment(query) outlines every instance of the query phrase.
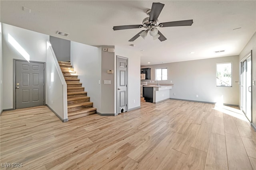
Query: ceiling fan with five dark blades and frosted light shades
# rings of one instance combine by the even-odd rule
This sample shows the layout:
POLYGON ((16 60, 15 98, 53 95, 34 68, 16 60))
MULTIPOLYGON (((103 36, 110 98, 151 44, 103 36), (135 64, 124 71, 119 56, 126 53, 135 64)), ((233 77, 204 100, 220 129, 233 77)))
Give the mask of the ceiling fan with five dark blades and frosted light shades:
POLYGON ((121 29, 133 29, 133 28, 146 28, 145 30, 140 31, 134 37, 132 37, 129 41, 134 41, 138 37, 146 38, 148 32, 153 37, 153 39, 159 39, 160 41, 165 41, 166 37, 162 35, 160 31, 156 27, 176 27, 176 26, 189 26, 192 25, 193 20, 182 20, 182 21, 171 21, 171 22, 163 22, 158 23, 158 16, 160 15, 162 9, 164 8, 164 4, 153 2, 151 10, 147 10, 146 14, 149 17, 145 18, 142 21, 142 25, 121 25, 114 26, 113 29, 121 30, 121 29))

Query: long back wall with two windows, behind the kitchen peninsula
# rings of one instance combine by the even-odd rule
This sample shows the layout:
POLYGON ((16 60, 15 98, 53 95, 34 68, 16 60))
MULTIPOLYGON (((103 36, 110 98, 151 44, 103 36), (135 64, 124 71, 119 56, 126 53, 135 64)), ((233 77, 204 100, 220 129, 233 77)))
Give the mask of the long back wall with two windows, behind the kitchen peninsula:
POLYGON ((220 102, 223 96, 224 104, 238 105, 239 86, 236 83, 239 80, 238 64, 238 56, 229 56, 142 66, 142 68, 151 68, 151 81, 155 79, 156 68, 168 68, 168 80, 159 81, 159 84, 170 84, 172 80, 174 86, 170 90, 170 98, 220 102), (229 62, 232 62, 232 87, 216 87, 216 64, 229 62))

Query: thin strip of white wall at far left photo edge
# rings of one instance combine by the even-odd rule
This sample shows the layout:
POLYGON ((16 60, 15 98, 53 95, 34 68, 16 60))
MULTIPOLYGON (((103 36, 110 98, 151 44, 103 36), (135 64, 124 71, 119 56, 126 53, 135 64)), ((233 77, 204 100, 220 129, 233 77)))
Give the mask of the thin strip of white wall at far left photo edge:
POLYGON ((0 113, 3 111, 2 23, 0 23, 0 113))

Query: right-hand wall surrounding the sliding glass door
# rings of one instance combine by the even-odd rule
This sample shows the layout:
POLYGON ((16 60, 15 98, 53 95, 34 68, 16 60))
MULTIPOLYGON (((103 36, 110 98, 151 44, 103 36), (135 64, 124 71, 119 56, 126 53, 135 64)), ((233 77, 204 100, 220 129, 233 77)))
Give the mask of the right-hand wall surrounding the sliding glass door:
MULTIPOLYGON (((256 81, 256 32, 239 55, 240 61, 252 50, 252 80, 256 81)), ((239 72, 240 74, 240 72, 239 72)), ((239 98, 240 99, 240 98, 239 98)), ((240 104, 240 102, 239 102, 240 104)), ((252 123, 256 126, 256 86, 252 85, 252 123)))

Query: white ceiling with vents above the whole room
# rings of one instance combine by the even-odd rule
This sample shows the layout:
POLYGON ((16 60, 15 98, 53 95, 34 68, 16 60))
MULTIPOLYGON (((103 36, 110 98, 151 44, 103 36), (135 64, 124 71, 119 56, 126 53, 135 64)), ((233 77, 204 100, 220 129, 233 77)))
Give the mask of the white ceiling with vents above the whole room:
POLYGON ((254 0, 1 0, 0 6, 2 23, 87 45, 118 45, 133 49, 141 53, 141 65, 239 55, 256 31, 254 0), (165 4, 158 18, 160 23, 191 19, 194 23, 192 26, 159 28, 167 38, 162 42, 153 40, 150 35, 145 40, 139 37, 128 42, 143 28, 113 31, 113 26, 141 24, 152 2, 165 4), (31 13, 23 11, 22 6, 30 8, 31 13), (238 27, 242 28, 233 30, 238 27), (56 35, 57 30, 70 35, 56 35), (214 53, 220 50, 225 52, 214 53))

